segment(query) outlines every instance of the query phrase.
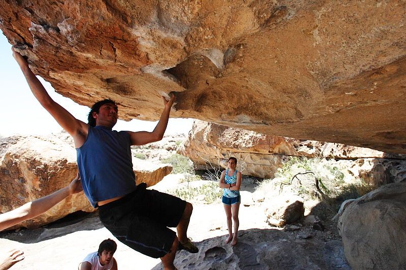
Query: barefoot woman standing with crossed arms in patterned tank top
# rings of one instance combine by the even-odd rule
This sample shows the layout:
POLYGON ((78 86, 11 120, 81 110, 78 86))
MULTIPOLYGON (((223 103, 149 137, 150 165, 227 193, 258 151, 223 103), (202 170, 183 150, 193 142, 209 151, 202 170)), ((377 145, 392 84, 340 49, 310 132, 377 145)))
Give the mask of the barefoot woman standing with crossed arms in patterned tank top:
POLYGON ((231 246, 237 243, 238 227, 240 220, 238 219, 238 212, 240 210, 240 186, 241 186, 241 172, 236 170, 237 159, 228 159, 228 169, 221 173, 219 186, 223 188, 223 204, 224 211, 227 216, 228 238, 225 243, 231 240, 231 246), (231 217, 234 220, 234 236, 231 230, 231 217))

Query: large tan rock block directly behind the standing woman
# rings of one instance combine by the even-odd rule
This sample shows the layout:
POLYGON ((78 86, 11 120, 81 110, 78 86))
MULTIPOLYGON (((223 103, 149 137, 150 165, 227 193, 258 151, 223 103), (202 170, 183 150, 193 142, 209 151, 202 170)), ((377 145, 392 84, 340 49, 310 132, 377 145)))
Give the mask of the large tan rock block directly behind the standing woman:
POLYGON ((189 157, 197 169, 210 169, 211 166, 227 168, 227 159, 235 157, 238 169, 244 175, 269 178, 289 157, 268 153, 289 155, 294 152, 284 139, 195 121, 184 148, 178 149, 178 152, 189 157))

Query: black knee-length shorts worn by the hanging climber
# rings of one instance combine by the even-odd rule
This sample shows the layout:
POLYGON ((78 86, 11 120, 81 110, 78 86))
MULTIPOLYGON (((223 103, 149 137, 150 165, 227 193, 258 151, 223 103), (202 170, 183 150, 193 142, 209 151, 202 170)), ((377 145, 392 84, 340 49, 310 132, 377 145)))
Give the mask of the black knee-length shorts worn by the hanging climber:
MULTIPOLYGON (((176 227, 186 202, 142 183, 123 198, 100 206, 101 223, 122 243, 153 258, 166 255, 174 243, 176 227)), ((174 250, 173 252, 176 252, 174 250)))

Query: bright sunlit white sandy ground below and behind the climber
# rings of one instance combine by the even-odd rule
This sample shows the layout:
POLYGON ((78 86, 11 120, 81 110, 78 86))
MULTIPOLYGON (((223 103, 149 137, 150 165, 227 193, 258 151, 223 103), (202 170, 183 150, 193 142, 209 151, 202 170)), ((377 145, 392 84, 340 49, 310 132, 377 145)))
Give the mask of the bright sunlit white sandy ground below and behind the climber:
MULTIPOLYGON (((168 175, 154 186, 166 190, 178 184, 179 176, 168 175)), ((246 187, 246 189, 250 187, 246 187)), ((240 209, 240 229, 269 228, 264 222, 260 206, 242 206, 240 209)), ((194 203, 188 236, 194 242, 227 235, 223 205, 220 201, 206 205, 194 203)), ((0 235, 0 252, 12 248, 24 251, 25 259, 10 269, 77 269, 78 264, 90 252, 97 251, 101 241, 113 238, 101 225, 97 215, 91 214, 85 219, 69 225, 60 224, 38 228, 6 232, 0 235)), ((113 238, 114 239, 114 238, 113 238)), ((118 244, 114 254, 120 269, 150 269, 159 263, 159 259, 149 258, 133 251, 124 244, 118 244)))

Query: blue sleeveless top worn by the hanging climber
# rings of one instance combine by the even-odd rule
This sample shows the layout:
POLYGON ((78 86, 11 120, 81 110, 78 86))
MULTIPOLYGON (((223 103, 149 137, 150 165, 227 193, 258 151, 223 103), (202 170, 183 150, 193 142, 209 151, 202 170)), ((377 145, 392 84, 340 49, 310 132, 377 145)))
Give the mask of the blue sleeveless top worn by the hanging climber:
POLYGON ((83 191, 93 207, 137 188, 130 146, 127 132, 96 126, 89 127, 85 143, 76 148, 83 191))

